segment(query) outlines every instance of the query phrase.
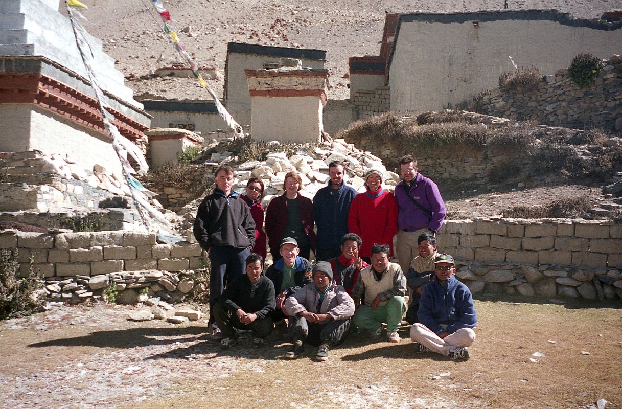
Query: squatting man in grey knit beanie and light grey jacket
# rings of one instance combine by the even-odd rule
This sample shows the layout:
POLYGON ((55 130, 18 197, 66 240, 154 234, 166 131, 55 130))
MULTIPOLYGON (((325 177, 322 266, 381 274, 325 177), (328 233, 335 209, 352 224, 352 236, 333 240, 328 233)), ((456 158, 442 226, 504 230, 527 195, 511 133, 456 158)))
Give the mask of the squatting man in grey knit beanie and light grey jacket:
POLYGON ((319 346, 317 360, 327 360, 328 350, 345 340, 354 315, 354 300, 343 286, 333 281, 333 270, 327 261, 313 266, 313 283, 285 299, 289 334, 294 339, 287 358, 304 354, 304 341, 319 346))

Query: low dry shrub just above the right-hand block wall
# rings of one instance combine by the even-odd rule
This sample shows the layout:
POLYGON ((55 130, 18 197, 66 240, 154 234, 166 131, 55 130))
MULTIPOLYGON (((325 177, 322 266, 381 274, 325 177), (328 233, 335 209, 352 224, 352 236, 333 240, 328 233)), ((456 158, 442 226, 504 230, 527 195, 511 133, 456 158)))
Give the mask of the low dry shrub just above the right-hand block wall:
POLYGON ((590 195, 560 197, 549 204, 518 205, 503 211, 504 217, 545 219, 550 217, 579 217, 592 205, 590 195))

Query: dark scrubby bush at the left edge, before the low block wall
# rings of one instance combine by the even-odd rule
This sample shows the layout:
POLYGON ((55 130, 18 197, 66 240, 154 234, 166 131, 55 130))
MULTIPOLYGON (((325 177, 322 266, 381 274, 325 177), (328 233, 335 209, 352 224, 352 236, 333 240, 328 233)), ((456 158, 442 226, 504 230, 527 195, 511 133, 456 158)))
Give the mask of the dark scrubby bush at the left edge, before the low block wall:
POLYGON ((17 250, 0 250, 0 319, 18 315, 30 315, 37 311, 41 302, 35 291, 41 287, 30 263, 30 272, 18 278, 17 250))

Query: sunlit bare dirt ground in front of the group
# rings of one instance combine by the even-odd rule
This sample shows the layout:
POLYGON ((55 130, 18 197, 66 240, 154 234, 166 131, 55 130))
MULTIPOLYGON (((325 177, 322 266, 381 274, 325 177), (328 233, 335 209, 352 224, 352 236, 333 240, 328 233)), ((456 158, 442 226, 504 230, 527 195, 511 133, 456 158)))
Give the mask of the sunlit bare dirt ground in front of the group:
MULTIPOLYGON (((280 333, 222 351, 205 322, 130 322, 140 307, 62 306, 0 327, 0 408, 622 408, 622 305, 478 299, 468 362, 361 334, 315 362, 280 333), (547 354, 531 362, 535 352, 547 354), (589 354, 583 354, 587 352, 589 354)), ((553 302, 552 302, 553 301, 553 302)))

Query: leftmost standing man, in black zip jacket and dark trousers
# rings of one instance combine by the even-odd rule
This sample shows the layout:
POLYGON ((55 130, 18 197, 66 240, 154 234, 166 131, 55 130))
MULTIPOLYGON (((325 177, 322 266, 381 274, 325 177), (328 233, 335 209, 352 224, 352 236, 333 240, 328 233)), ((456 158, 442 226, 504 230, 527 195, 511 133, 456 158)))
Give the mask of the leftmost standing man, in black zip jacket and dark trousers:
POLYGON ((233 169, 221 165, 216 169, 216 187, 198 207, 193 233, 210 258, 211 335, 219 336, 213 307, 226 283, 244 274, 244 260, 255 243, 255 222, 246 202, 233 192, 233 169))

